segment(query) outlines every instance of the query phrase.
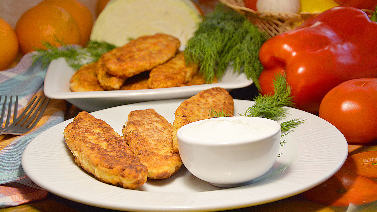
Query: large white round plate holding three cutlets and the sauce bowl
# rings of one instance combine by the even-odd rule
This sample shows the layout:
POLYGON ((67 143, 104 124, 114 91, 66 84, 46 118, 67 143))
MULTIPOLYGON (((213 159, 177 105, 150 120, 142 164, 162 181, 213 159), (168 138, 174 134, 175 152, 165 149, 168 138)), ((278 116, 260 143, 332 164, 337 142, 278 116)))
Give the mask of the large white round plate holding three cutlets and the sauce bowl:
MULTIPOLYGON (((91 114, 106 121, 118 134, 132 110, 153 108, 173 123, 184 99, 149 101, 108 108, 91 114)), ((234 100, 234 114, 253 101, 234 100)), ((60 197, 92 206, 128 211, 215 211, 280 200, 308 190, 335 174, 344 163, 348 145, 333 125, 313 114, 290 108, 285 120, 305 120, 283 137, 276 163, 251 184, 219 188, 199 180, 182 167, 165 180, 148 180, 138 189, 102 183, 77 166, 64 143, 67 120, 42 132, 26 147, 22 167, 32 181, 60 197)), ((210 168, 210 167, 208 167, 210 168)), ((245 167, 247 169, 247 167, 245 167)))

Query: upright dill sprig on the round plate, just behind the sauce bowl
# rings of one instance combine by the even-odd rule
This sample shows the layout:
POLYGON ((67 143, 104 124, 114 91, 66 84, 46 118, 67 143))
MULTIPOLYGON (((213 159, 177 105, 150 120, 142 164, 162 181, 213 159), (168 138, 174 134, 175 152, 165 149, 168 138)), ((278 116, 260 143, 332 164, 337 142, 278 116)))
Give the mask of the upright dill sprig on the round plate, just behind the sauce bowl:
POLYGON ((253 100, 255 104, 248 108, 242 116, 264 117, 279 120, 287 117, 288 108, 293 106, 291 87, 285 80, 285 75, 276 76, 274 83, 274 94, 259 94, 253 100))

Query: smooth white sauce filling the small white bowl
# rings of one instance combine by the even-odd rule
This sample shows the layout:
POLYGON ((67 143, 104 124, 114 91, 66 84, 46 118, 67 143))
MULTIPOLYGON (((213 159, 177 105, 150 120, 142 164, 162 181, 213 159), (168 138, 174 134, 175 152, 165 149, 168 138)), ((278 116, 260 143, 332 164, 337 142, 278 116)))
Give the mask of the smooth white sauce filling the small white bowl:
POLYGON ((231 143, 232 141, 261 138, 276 130, 277 126, 262 122, 208 119, 184 129, 182 136, 208 143, 231 143))

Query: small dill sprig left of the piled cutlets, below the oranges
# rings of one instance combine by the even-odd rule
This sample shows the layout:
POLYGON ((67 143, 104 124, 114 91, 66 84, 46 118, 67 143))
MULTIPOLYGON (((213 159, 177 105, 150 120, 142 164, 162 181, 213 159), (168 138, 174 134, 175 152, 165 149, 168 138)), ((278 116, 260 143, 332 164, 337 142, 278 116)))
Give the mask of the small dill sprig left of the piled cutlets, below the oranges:
POLYGON ((47 50, 36 49, 37 53, 32 55, 32 65, 41 61, 42 67, 46 68, 52 60, 64 57, 67 64, 77 70, 85 64, 97 61, 102 54, 115 48, 112 44, 98 41, 89 41, 85 48, 78 45, 64 45, 61 41, 59 43, 62 46, 55 47, 48 42, 43 42, 47 50))

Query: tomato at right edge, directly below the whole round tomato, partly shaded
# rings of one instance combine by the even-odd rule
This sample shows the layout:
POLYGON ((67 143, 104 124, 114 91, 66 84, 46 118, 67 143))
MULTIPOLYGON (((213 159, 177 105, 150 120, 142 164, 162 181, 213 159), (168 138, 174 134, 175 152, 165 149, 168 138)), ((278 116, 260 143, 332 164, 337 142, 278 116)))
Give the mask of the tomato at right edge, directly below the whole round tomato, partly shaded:
POLYGON ((343 166, 353 174, 377 178, 377 151, 360 152, 348 156, 343 166))

